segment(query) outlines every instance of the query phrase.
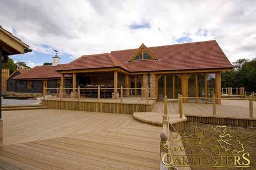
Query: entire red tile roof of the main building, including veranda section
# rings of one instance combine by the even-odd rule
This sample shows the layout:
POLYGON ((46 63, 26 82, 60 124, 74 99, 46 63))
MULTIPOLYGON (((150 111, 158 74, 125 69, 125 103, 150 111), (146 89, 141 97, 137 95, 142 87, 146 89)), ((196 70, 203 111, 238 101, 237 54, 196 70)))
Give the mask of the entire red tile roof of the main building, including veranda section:
POLYGON ((128 62, 136 49, 82 56, 59 70, 122 67, 130 72, 233 68, 215 40, 150 47, 158 60, 128 62))

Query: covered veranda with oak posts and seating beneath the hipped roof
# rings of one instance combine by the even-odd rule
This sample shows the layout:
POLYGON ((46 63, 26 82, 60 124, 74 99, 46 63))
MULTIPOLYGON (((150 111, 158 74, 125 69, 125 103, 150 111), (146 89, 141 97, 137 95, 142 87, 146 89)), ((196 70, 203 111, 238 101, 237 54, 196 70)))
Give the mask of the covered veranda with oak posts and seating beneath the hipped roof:
POLYGON ((150 89, 143 83, 143 75, 130 75, 121 68, 102 68, 77 71, 60 71, 60 88, 62 97, 78 98, 112 98, 141 97, 147 98, 150 89), (65 75, 72 76, 72 88, 65 87, 65 75), (98 92, 100 88, 100 92, 98 92), (122 90, 123 89, 123 90, 122 90), (121 92, 122 91, 122 92, 121 92), (148 92, 147 92, 148 91, 148 92))

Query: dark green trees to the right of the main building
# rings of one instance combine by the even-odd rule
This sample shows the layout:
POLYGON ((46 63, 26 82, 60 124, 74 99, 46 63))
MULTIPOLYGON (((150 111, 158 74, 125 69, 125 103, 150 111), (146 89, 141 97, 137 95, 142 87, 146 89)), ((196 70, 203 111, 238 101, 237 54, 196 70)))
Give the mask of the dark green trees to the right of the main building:
POLYGON ((235 70, 222 72, 222 87, 245 87, 246 91, 256 91, 256 58, 238 59, 233 62, 235 70))

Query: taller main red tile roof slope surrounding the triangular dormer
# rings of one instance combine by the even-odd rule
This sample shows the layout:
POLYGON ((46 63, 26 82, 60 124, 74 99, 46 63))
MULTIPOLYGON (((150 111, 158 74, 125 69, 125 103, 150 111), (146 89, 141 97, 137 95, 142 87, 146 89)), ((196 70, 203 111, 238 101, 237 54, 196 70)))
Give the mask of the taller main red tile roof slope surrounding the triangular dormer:
POLYGON ((111 54, 131 72, 233 68, 215 40, 150 47, 158 60, 127 62, 136 49, 112 51, 111 54))

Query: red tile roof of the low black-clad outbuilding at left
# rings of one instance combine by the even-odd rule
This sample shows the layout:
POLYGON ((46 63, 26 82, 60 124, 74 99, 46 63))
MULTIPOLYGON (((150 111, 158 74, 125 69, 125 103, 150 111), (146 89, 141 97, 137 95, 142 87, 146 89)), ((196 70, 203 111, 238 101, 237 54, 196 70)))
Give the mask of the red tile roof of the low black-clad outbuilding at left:
POLYGON ((55 67, 52 67, 51 65, 36 66, 36 67, 26 71, 25 73, 21 73, 20 75, 14 77, 14 79, 52 79, 52 78, 60 78, 61 74, 58 73, 55 70, 65 66, 65 65, 57 65, 55 67))

